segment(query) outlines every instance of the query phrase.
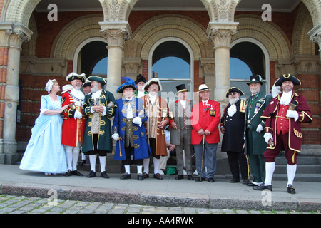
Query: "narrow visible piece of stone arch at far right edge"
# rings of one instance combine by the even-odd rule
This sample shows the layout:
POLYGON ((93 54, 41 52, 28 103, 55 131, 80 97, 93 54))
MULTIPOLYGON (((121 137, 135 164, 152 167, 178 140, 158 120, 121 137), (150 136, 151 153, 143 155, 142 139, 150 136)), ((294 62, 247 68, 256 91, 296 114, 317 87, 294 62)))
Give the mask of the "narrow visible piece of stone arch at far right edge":
POLYGON ((307 10, 307 7, 304 4, 301 4, 293 30, 292 48, 295 56, 315 55, 316 43, 311 42, 310 36, 307 35, 312 28, 313 22, 310 13, 307 10))

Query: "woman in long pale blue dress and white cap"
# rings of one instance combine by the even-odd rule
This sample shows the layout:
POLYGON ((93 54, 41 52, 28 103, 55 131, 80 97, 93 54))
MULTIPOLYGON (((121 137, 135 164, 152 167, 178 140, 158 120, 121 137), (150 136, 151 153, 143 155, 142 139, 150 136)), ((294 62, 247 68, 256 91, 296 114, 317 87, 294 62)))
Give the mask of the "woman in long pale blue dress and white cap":
POLYGON ((68 105, 61 107, 61 96, 56 95, 60 86, 56 80, 49 80, 46 90, 49 95, 41 96, 40 115, 31 129, 20 169, 56 175, 68 171, 65 150, 61 145, 63 118, 60 115, 68 105))

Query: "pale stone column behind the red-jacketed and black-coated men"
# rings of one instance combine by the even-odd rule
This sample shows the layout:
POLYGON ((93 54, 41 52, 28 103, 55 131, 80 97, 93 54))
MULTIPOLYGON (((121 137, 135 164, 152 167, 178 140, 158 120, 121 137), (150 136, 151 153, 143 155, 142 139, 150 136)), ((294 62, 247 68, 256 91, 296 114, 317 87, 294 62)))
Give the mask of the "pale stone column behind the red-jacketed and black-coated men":
POLYGON ((230 40, 237 32, 238 23, 208 24, 208 36, 214 42, 215 90, 214 97, 219 103, 228 103, 226 92, 230 88, 230 40))

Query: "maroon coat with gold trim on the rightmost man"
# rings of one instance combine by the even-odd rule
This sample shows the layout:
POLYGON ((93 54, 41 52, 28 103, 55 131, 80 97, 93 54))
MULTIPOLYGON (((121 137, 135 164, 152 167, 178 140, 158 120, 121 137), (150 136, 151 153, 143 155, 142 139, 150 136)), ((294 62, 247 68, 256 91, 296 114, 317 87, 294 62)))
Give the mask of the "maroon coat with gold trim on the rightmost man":
MULTIPOLYGON (((273 136, 273 140, 276 140, 276 123, 278 118, 278 113, 280 110, 280 98, 282 93, 277 95, 277 97, 273 98, 267 108, 265 108, 261 118, 265 120, 265 133, 271 133, 273 136)), ((297 93, 292 94, 291 103, 293 101, 297 101, 297 108, 295 109, 299 114, 299 118, 295 121, 294 118, 288 118, 289 121, 289 147, 291 150, 295 150, 296 152, 301 151, 301 123, 310 123, 312 122, 312 113, 307 105, 305 98, 302 95, 297 93)), ((277 141, 274 142, 275 146, 277 145, 277 141)), ((267 145, 268 149, 274 149, 274 147, 270 147, 267 145)))

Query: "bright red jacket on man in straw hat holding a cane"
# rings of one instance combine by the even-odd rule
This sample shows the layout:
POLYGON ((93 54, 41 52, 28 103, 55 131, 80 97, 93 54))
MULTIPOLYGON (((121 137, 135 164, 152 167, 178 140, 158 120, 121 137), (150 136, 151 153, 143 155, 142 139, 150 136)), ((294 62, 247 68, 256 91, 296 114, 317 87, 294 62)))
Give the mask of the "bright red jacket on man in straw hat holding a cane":
POLYGON ((220 124, 220 103, 208 100, 207 108, 203 110, 203 103, 197 103, 192 110, 192 144, 198 145, 203 140, 203 135, 198 135, 198 130, 209 130, 210 135, 205 135, 208 143, 220 142, 218 125, 220 124))

